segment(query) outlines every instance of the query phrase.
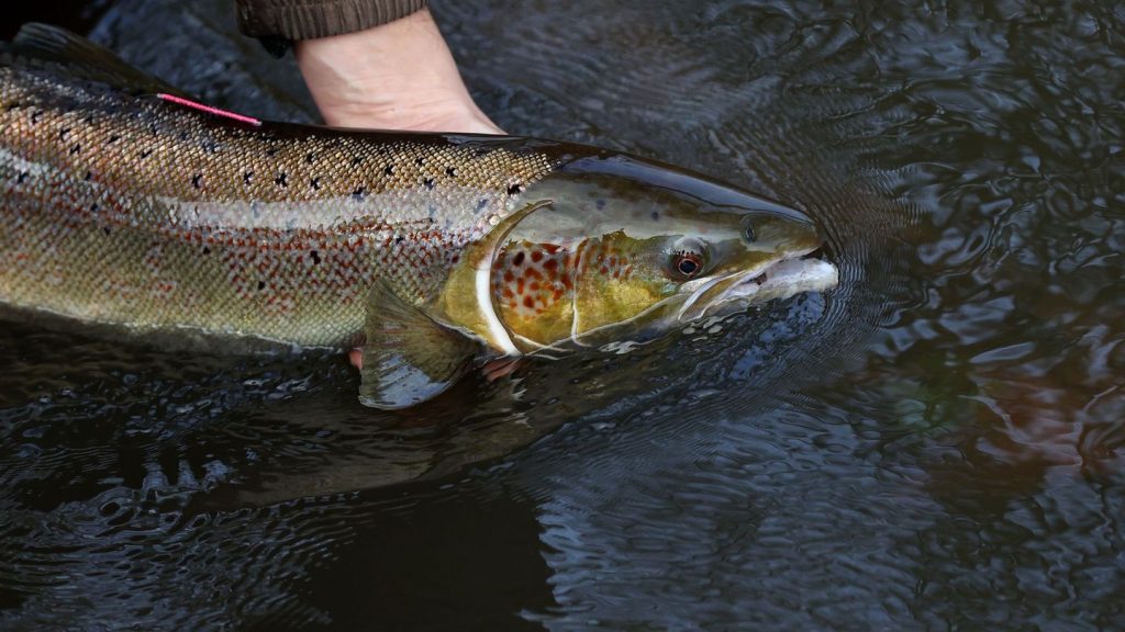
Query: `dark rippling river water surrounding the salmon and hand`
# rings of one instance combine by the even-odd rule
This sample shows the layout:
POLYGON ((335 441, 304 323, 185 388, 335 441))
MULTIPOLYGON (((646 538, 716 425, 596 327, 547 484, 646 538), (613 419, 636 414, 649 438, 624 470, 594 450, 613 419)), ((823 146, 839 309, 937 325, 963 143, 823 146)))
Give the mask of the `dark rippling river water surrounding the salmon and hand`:
MULTIPOLYGON (((1125 628, 1125 9, 434 2, 482 106, 802 207, 842 287, 380 416, 0 328, 0 629, 1125 628)), ((97 39, 313 120, 222 1, 97 39)))

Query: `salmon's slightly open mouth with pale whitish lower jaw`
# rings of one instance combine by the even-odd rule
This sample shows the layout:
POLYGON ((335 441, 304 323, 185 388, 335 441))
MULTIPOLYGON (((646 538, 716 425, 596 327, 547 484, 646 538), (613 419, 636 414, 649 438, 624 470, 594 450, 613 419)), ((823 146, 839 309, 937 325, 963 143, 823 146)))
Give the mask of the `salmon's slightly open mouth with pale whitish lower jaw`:
POLYGON ((684 300, 681 320, 721 317, 750 305, 802 292, 825 291, 839 283, 839 270, 811 250, 753 270, 709 279, 684 300))

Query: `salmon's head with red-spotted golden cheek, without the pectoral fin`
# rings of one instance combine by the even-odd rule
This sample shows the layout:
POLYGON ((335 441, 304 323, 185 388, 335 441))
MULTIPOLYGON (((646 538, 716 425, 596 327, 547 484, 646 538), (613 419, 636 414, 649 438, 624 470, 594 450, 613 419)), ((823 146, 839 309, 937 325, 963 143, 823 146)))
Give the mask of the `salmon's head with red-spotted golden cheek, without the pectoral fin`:
POLYGON ((800 211, 673 168, 585 159, 529 188, 549 200, 493 259, 492 300, 521 351, 637 340, 836 285, 800 211))

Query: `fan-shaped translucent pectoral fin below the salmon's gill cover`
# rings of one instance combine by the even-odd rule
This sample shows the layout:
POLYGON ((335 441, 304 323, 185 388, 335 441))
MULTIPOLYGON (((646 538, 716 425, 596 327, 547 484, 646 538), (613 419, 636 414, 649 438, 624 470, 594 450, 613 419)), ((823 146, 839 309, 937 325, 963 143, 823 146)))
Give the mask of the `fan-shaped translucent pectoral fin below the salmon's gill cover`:
POLYGON ((447 327, 378 281, 367 303, 362 382, 364 406, 399 409, 436 397, 470 368, 480 344, 447 327))

